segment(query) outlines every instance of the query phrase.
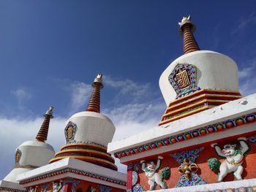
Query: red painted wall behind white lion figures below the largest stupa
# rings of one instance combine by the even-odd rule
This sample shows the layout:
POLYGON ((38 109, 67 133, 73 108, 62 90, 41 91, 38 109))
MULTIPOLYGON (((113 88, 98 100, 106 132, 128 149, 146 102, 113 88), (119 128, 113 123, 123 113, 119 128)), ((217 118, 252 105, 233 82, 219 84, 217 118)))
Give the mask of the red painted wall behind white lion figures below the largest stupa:
MULTIPOLYGON (((219 142, 219 146, 222 148, 223 145, 229 143, 229 142, 237 142, 236 139, 230 139, 225 142, 219 142)), ((251 151, 249 152, 248 155, 244 158, 244 162, 242 166, 244 166, 244 172, 242 174, 242 177, 244 179, 252 179, 256 178, 256 171, 255 171, 255 162, 256 162, 256 146, 252 144, 252 142, 247 141, 251 147, 251 151)), ((224 161, 225 159, 220 158, 214 148, 210 146, 210 144, 203 146, 204 149, 201 151, 200 155, 197 157, 195 164, 199 166, 199 169, 197 171, 197 174, 200 175, 203 180, 206 181, 206 183, 217 183, 217 174, 211 171, 211 169, 208 167, 207 161, 209 158, 217 158, 219 161, 224 161)), ((184 151, 184 150, 180 150, 184 151)), ((176 151, 178 152, 178 151, 176 151)), ((162 160, 162 164, 160 168, 158 169, 158 173, 160 174, 160 170, 164 168, 165 166, 170 166, 170 178, 166 181, 168 188, 174 188, 176 186, 176 183, 178 183, 178 179, 181 176, 181 174, 178 172, 178 162, 176 161, 175 158, 170 157, 170 153, 165 153, 162 155, 164 159, 162 160)), ((142 159, 140 159, 142 160, 142 159)), ((137 163, 140 160, 137 160, 132 163, 137 163)), ((155 164, 157 163, 157 157, 154 158, 146 158, 146 161, 154 161, 155 164)), ((149 185, 148 185, 148 178, 145 176, 144 172, 141 170, 141 165, 140 165, 140 170, 138 172, 139 174, 139 183, 140 185, 148 190, 149 185)), ((233 174, 227 174, 225 177, 224 181, 233 181, 236 180, 233 177, 233 174)), ((157 185, 156 189, 160 189, 159 185, 157 185)))

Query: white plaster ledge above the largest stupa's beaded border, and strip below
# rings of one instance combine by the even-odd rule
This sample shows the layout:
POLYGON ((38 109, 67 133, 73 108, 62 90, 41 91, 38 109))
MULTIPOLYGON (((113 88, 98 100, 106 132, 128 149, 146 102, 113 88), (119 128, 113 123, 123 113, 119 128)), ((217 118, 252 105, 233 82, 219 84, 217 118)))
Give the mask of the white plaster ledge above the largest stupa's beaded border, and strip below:
MULTIPOLYGON (((206 110, 203 112, 199 112, 195 115, 190 115, 186 118, 175 120, 163 126, 148 128, 147 131, 140 132, 139 134, 135 134, 131 137, 127 137, 125 139, 121 139, 116 142, 110 142, 108 144, 108 153, 113 154, 121 150, 127 150, 131 147, 136 147, 136 146, 144 145, 148 142, 157 141, 158 139, 164 139, 166 137, 174 136, 176 134, 182 134, 186 131, 191 131, 197 128, 203 128, 205 126, 208 126, 214 123, 219 123, 224 120, 236 118, 241 115, 246 115, 252 112, 256 112, 256 94, 252 94, 244 98, 237 99, 235 101, 230 101, 227 104, 222 104, 210 110, 206 110)), ((250 131, 255 131, 254 127, 252 126, 247 126, 247 127, 250 131)), ((236 130, 239 130, 239 128, 230 129, 230 131, 233 132, 233 134, 236 134, 236 130)), ((225 131, 225 133, 227 133, 227 131, 225 131)), ((211 134, 211 137, 213 137, 216 134, 211 134)), ((228 134, 225 134, 225 135, 228 137, 228 134)), ((223 134, 220 133, 219 137, 222 138, 223 134)), ((201 138, 204 140, 200 141, 198 140, 199 138, 189 139, 186 142, 179 142, 176 145, 182 147, 181 143, 192 142, 193 140, 194 140, 193 142, 198 141, 198 143, 208 141, 207 137, 201 137, 201 138)), ((193 145, 195 145, 195 143, 193 143, 193 145)), ((170 145, 170 146, 174 147, 174 145, 170 145)), ((168 146, 159 147, 159 149, 161 148, 167 149, 166 147, 168 146)), ((154 151, 154 150, 150 150, 150 151, 154 151)), ((143 153, 146 154, 148 153, 148 151, 143 153)), ((143 154, 143 153, 139 153, 139 154, 143 154)), ((132 156, 135 156, 135 155, 130 155, 130 157, 132 156)))

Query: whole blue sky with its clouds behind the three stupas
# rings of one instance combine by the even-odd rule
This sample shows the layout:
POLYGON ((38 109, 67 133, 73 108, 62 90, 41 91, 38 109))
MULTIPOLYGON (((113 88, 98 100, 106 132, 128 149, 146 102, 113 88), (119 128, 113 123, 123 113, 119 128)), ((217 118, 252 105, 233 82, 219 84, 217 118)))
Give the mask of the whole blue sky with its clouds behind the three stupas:
POLYGON ((114 139, 156 126, 165 111, 159 76, 182 55, 184 15, 197 25, 200 49, 233 58, 241 93, 255 93, 255 8, 255 1, 0 1, 0 179, 49 105, 56 118, 48 142, 59 151, 65 120, 86 108, 98 72, 114 139))

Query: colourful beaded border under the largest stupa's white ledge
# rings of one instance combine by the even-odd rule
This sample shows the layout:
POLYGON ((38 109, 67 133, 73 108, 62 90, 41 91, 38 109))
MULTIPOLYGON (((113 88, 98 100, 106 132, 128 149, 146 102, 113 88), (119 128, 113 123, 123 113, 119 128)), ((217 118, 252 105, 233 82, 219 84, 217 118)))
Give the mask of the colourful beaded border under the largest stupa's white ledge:
POLYGON ((244 115, 238 118, 233 118, 230 120, 225 120, 220 123, 216 123, 203 128, 197 128, 192 131, 187 131, 183 134, 177 134, 172 137, 167 137, 165 139, 160 139, 155 142, 150 142, 145 145, 140 145, 138 147, 133 147, 128 150, 122 150, 120 152, 114 153, 116 158, 122 158, 129 155, 134 155, 136 153, 142 153, 146 150, 156 149, 158 147, 173 145, 176 142, 183 142, 188 139, 193 139, 195 137, 203 137, 207 134, 212 134, 214 132, 224 131, 229 128, 236 128, 238 126, 243 126, 245 124, 254 123, 256 121, 256 112, 248 115, 244 115))

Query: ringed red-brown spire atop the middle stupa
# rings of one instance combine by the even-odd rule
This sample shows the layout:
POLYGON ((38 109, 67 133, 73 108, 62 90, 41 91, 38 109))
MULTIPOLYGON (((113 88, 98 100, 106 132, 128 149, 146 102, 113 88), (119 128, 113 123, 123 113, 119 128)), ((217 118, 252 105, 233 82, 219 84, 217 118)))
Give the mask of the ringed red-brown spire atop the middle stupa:
POLYGON ((91 84, 94 90, 91 93, 91 98, 88 103, 86 111, 99 112, 100 111, 100 89, 103 88, 102 84, 102 74, 98 74, 94 79, 94 82, 91 84))

